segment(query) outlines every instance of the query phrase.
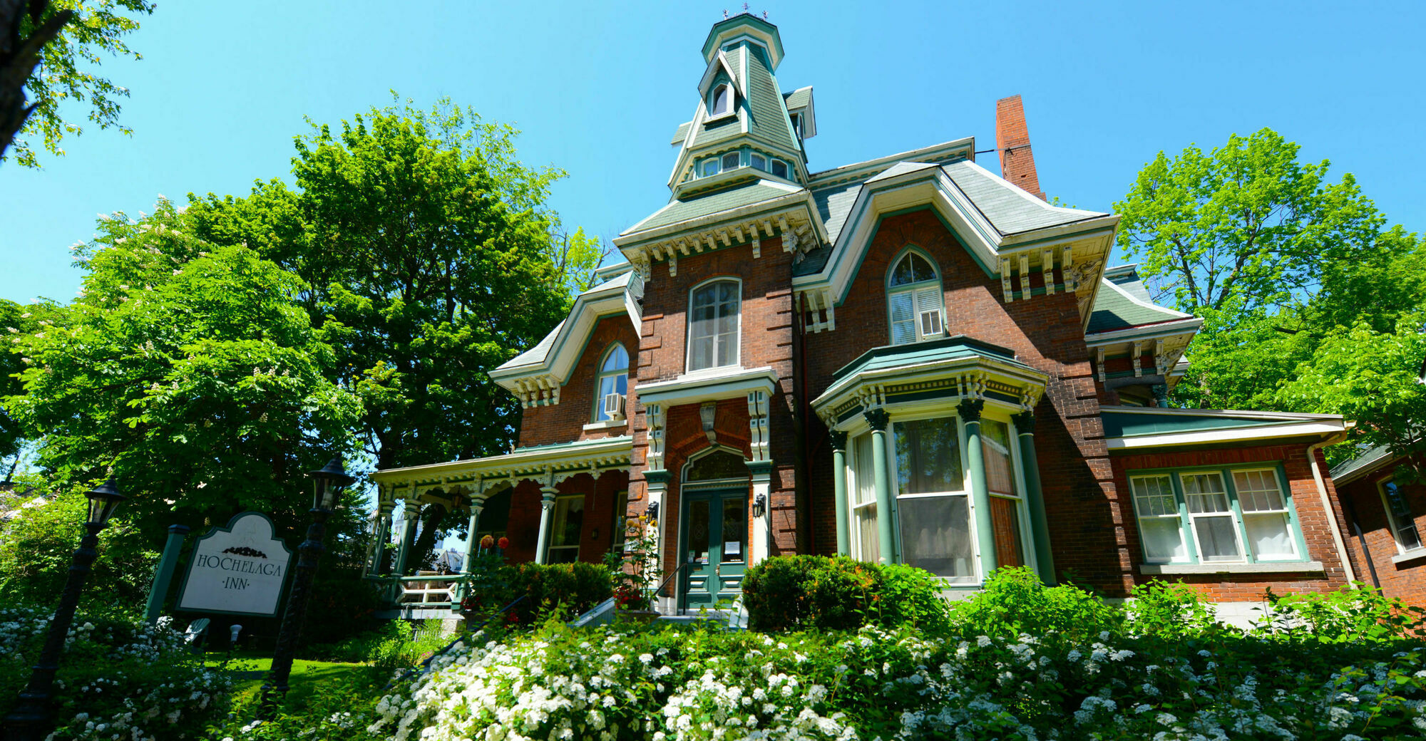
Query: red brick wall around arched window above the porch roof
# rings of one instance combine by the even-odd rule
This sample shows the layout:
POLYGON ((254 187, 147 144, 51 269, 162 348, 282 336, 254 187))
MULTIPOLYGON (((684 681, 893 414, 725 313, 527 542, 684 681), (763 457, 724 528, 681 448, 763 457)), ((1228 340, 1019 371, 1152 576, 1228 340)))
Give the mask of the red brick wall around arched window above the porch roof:
MULTIPOLYGON (((572 338, 580 342, 582 338, 572 338)), ((568 443, 572 440, 589 440, 609 436, 627 435, 627 426, 609 428, 602 430, 585 430, 583 426, 595 420, 595 395, 599 392, 595 385, 599 379, 599 362, 605 358, 609 345, 622 342, 629 352, 629 400, 625 410, 633 409, 635 376, 633 362, 639 349, 639 335, 635 332, 626 314, 610 315, 599 319, 595 331, 585 345, 579 362, 559 389, 559 403, 550 406, 530 406, 525 409, 520 422, 520 447, 550 443, 568 443)))

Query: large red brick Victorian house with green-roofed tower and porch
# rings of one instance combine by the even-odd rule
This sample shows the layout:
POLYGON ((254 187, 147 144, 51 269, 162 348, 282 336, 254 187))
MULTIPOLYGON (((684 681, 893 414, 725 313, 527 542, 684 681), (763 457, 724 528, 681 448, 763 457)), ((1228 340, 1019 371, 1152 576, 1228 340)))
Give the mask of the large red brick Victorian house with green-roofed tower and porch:
POLYGON ((784 553, 950 590, 1012 564, 1111 596, 1182 579, 1229 613, 1356 577, 1319 452, 1342 419, 1164 408, 1201 321, 1105 269, 1118 217, 1044 201, 1018 97, 1010 181, 973 138, 811 171, 777 28, 727 19, 702 51, 669 204, 492 372, 519 446, 378 472, 382 529, 399 502, 473 504, 512 557, 596 561, 656 510, 666 611, 784 553))

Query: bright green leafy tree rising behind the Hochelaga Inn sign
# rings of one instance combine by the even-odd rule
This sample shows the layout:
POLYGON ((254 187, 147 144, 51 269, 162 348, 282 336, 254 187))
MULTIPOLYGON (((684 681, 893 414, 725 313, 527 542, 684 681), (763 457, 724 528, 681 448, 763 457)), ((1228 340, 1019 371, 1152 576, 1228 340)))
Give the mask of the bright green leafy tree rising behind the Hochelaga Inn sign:
POLYGON ((155 539, 244 509, 302 520, 305 473, 349 450, 361 409, 328 379, 339 326, 314 329, 299 279, 202 242, 167 201, 98 232, 80 251, 83 295, 14 335, 26 369, 6 409, 53 486, 113 472, 131 497, 123 516, 155 539))

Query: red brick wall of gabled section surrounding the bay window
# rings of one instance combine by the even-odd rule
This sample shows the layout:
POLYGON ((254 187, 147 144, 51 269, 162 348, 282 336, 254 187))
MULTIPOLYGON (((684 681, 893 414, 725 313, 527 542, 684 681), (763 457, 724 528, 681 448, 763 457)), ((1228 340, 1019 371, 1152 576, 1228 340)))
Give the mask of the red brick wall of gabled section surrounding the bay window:
MULTIPOLYGON (((1072 294, 1017 298, 1005 304, 1000 279, 985 275, 933 211, 890 217, 871 238, 846 304, 837 306, 837 329, 807 335, 809 396, 821 393, 834 370, 867 349, 890 342, 886 274, 890 261, 908 244, 930 254, 940 268, 950 335, 1010 348, 1021 362, 1050 375, 1045 398, 1035 409, 1035 455, 1055 567, 1061 574, 1074 571, 1081 583, 1109 594, 1127 593, 1134 574, 1125 519, 1118 506, 1094 368, 1072 294)), ((1031 286, 1042 285, 1040 274, 1032 274, 1031 286)), ((826 429, 816 419, 807 423, 816 443, 809 472, 817 551, 831 553, 836 549, 831 450, 826 445, 826 429)))

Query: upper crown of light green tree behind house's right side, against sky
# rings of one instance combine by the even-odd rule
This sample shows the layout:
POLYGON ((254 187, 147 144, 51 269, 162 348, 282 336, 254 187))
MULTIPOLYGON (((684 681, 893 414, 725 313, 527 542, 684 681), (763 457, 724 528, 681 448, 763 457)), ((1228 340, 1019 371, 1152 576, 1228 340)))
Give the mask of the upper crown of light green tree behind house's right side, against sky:
POLYGON ((1328 181, 1328 164, 1299 162, 1298 145, 1271 128, 1206 155, 1159 152, 1114 204, 1118 244, 1179 311, 1258 316, 1303 301, 1323 261, 1370 251, 1383 224, 1350 174, 1328 181))

